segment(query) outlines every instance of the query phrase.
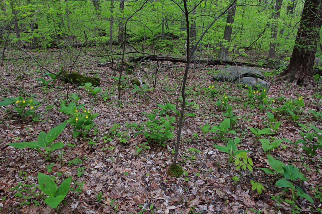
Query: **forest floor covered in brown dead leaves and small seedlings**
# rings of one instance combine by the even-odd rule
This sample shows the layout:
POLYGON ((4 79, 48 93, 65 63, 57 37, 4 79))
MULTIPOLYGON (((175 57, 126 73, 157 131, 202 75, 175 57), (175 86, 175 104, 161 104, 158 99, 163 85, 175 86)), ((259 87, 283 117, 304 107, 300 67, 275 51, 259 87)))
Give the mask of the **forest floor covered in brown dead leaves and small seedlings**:
MULTIPOLYGON (((87 51, 95 54, 94 50, 87 51)), ((69 60, 72 57, 66 57, 68 53, 65 53, 65 59, 58 62, 58 50, 29 54, 53 72, 61 68, 68 70, 72 64, 69 60)), ((294 165, 308 178, 302 183, 299 179, 292 183, 303 187, 314 204, 303 197, 292 203, 290 188, 274 185, 283 174, 267 174, 259 169, 271 169, 268 152, 263 150, 261 142, 249 128, 267 128, 267 111, 272 110, 267 106, 260 110, 258 106, 262 102, 249 99, 247 89, 241 86, 214 82, 213 74, 224 66, 189 70, 186 94, 190 105, 185 111, 195 116, 185 116, 183 122, 178 164, 184 174, 176 178, 167 175, 176 142, 178 116, 175 111, 166 111, 176 120, 172 124, 175 136, 165 142, 165 146, 145 144, 147 139, 142 134, 135 136, 136 130, 127 124, 146 122, 148 119, 144 112, 162 110, 157 103, 177 105, 185 65, 163 62, 158 67, 155 62, 142 63, 132 74, 124 75, 121 82, 122 106, 118 107, 118 81, 113 78, 118 75, 108 67, 98 67, 96 60, 98 58, 88 59, 80 55, 73 67, 75 71, 100 78, 99 87, 103 92, 97 94, 96 101, 84 88, 71 85, 68 90, 68 84, 57 80, 50 82, 48 87, 40 85, 35 79, 43 77, 46 71, 39 69, 35 63, 17 59, 5 61, 5 65, 0 67, 1 97, 22 95, 25 99, 32 97, 41 102, 34 109, 39 114, 38 121, 31 118, 22 120, 13 110, 14 104, 4 106, 0 111, 0 213, 318 213, 316 210, 322 208, 322 189, 318 190, 322 185, 321 149, 317 148, 315 156, 308 156, 301 148, 305 143, 296 145, 283 141, 270 152, 270 156, 285 165, 294 165), (156 88, 152 90, 157 67, 156 88), (136 93, 132 92, 134 85, 131 80, 138 77, 138 72, 148 90, 136 93), (212 85, 215 88, 213 97, 208 91, 212 85), (47 133, 67 120, 68 115, 57 111, 64 103, 67 92, 68 96, 78 94, 81 97, 78 103, 84 103, 86 109, 92 108, 92 113, 99 113, 94 119, 95 127, 85 137, 73 138, 73 128, 67 124, 55 141, 63 142, 64 147, 54 150, 49 161, 36 149, 6 146, 13 142, 36 141, 41 131, 47 133), (215 104, 226 96, 226 106, 215 104), (203 133, 200 127, 209 124, 211 128, 226 118, 223 114, 229 105, 238 118, 232 126, 236 134, 220 136, 214 132, 203 133), (236 137, 241 138, 237 149, 248 151, 247 157, 253 164, 252 172, 248 167, 236 170, 236 156, 233 156, 232 163, 228 163, 228 153, 214 147, 214 144, 226 146, 229 138, 236 137), (52 209, 44 203, 44 195, 39 194, 41 191, 37 187, 37 173, 51 175, 58 185, 72 176, 71 190, 60 206, 61 210, 52 209), (252 190, 251 180, 263 185, 261 194, 252 190)), ((267 75, 266 80, 270 84, 267 98, 275 99, 274 103, 271 99, 270 106, 277 108, 290 99, 294 102, 300 97, 305 104, 298 107, 296 114, 299 118, 296 122, 285 112, 275 113, 280 127, 272 130, 274 134, 259 138, 287 138, 296 142, 302 138, 300 130, 305 132, 298 122, 311 123, 322 129, 321 119, 317 124, 317 118, 308 111, 321 111, 322 100, 317 93, 321 93, 321 87, 316 90, 277 82, 276 76, 270 75, 271 70, 258 70, 267 75)), ((312 142, 317 142, 317 139, 312 142)))

